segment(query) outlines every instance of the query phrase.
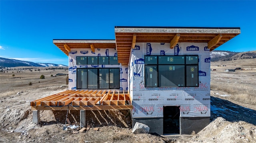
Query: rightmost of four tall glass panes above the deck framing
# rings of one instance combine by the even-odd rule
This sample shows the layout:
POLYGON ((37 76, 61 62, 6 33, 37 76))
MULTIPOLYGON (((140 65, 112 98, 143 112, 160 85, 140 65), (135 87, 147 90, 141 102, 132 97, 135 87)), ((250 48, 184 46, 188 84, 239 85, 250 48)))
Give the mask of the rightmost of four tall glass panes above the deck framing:
POLYGON ((120 71, 119 69, 109 69, 109 88, 119 89, 120 84, 120 71))

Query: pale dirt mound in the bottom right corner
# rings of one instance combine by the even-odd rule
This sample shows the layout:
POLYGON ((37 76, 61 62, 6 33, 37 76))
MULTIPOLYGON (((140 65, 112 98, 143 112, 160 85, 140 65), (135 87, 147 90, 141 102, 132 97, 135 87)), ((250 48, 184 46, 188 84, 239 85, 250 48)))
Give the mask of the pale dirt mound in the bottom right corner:
POLYGON ((244 121, 232 123, 218 117, 194 135, 191 140, 209 143, 255 143, 256 126, 244 121))

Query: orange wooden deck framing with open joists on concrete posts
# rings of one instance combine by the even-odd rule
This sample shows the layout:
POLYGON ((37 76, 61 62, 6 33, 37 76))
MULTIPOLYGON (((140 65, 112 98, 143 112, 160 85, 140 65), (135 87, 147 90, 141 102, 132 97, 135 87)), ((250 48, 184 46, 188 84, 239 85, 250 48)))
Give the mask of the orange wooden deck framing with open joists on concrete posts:
POLYGON ((32 110, 132 109, 129 93, 119 90, 66 90, 30 102, 32 110))

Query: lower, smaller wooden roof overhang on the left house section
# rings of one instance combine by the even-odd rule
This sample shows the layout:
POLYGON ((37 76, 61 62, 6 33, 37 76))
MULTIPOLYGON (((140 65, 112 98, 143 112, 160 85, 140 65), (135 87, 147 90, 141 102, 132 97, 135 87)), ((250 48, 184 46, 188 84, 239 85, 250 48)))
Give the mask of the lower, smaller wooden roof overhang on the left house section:
POLYGON ((86 48, 91 49, 93 52, 98 48, 116 48, 116 40, 67 40, 67 39, 53 39, 53 43, 66 55, 69 54, 72 49, 86 48))

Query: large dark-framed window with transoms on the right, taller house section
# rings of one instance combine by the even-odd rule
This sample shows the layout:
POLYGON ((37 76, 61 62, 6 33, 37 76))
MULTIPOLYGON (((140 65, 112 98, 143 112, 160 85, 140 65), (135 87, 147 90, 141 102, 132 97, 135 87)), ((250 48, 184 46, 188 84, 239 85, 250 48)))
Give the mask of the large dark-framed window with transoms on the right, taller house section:
POLYGON ((146 87, 197 87, 198 55, 145 56, 146 87))

